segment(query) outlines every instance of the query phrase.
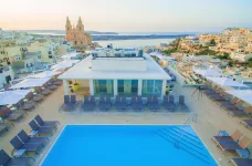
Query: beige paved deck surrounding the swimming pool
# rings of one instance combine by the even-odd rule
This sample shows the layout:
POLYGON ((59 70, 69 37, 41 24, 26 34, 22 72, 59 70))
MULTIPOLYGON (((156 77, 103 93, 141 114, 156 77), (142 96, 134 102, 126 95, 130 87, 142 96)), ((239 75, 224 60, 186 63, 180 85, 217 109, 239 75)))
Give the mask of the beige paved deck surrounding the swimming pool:
MULTIPOLYGON (((248 137, 252 138, 252 131, 245 128, 240 124, 238 117, 231 117, 227 114, 227 111, 222 110, 214 102, 210 101, 208 97, 202 95, 199 97, 198 94, 191 97, 196 89, 180 87, 176 84, 174 95, 179 94, 186 95, 186 103, 191 111, 198 113, 197 122, 191 122, 191 126, 195 128, 197 134, 200 136, 201 141, 204 143, 207 148, 210 151, 214 159, 222 166, 230 166, 228 160, 232 157, 239 157, 235 153, 225 152, 221 153, 221 149, 216 146, 211 141, 213 135, 218 134, 218 131, 224 129, 232 134, 235 129, 240 129, 248 137)), ((36 105, 35 110, 29 112, 23 120, 14 123, 14 126, 10 128, 9 132, 4 133, 0 137, 0 148, 3 148, 7 153, 11 153, 13 149, 10 145, 10 139, 17 135, 21 129, 29 133, 31 129, 28 123, 36 115, 40 114, 43 120, 57 120, 61 125, 59 129, 50 137, 50 142, 44 148, 41 149, 39 155, 35 155, 34 165, 39 165, 48 153, 55 138, 59 136, 60 132, 65 124, 185 124, 189 114, 188 113, 170 113, 167 111, 161 112, 59 112, 59 107, 63 103, 63 87, 59 87, 51 95, 49 95, 41 104, 36 105)), ((250 146, 252 152, 252 147, 250 146)), ((32 154, 31 154, 32 155, 32 154)))

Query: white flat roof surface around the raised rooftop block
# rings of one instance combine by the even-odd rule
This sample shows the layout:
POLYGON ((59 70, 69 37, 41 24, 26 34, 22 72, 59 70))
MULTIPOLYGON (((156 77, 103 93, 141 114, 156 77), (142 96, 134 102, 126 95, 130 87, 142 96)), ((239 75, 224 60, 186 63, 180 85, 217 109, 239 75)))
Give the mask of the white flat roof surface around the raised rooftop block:
POLYGON ((145 53, 146 71, 93 71, 92 55, 87 56, 65 73, 61 74, 59 79, 62 80, 170 80, 170 76, 162 70, 162 68, 145 53))

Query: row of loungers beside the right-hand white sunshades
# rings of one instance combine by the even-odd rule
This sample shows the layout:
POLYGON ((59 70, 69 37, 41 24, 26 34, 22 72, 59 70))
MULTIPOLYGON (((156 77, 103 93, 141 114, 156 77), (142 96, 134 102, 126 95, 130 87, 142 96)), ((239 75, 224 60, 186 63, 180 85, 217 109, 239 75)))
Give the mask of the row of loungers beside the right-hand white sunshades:
MULTIPOLYGON (((211 86, 208 84, 208 86, 211 86)), ((214 101, 220 105, 224 111, 228 112, 231 116, 248 116, 252 117, 252 105, 243 106, 243 102, 237 97, 230 98, 221 87, 213 86, 209 87, 203 92, 209 98, 214 101)), ((246 127, 252 128, 252 120, 242 120, 241 124, 244 124, 246 127)))

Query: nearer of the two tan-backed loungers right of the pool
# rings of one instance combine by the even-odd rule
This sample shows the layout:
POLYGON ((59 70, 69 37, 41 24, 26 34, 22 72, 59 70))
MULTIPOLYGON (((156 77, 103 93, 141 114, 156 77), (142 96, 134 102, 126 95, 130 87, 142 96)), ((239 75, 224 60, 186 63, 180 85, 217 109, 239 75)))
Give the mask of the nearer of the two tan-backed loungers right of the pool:
POLYGON ((245 149, 251 144, 251 142, 252 142, 252 139, 249 139, 246 136, 243 136, 238 143, 237 142, 219 142, 218 146, 220 146, 220 148, 223 152, 245 149))

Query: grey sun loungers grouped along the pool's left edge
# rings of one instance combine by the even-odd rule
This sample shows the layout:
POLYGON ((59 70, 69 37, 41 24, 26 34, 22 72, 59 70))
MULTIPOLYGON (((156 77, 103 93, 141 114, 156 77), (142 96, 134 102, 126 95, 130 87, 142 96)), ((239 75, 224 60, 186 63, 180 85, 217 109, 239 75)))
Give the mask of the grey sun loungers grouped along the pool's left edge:
MULTIPOLYGON (((29 125, 32 128, 32 132, 35 132, 38 135, 52 134, 52 131, 56 129, 57 121, 43 121, 40 115, 36 115, 29 125)), ((36 135, 35 134, 35 135, 36 135)), ((31 157, 23 157, 23 154, 35 153, 39 154, 39 151, 44 147, 49 142, 48 136, 30 136, 23 129, 20 131, 11 141, 10 144, 13 146, 12 155, 19 151, 22 151, 22 155, 18 158, 11 158, 3 149, 0 151, 0 165, 3 166, 28 166, 31 164, 31 160, 34 160, 31 157)))

